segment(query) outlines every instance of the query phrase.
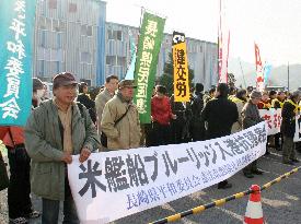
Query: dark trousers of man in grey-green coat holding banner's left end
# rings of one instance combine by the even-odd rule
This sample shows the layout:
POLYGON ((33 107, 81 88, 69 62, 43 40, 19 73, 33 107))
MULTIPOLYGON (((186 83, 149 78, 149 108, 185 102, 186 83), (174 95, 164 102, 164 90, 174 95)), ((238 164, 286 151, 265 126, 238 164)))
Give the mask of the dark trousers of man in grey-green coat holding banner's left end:
MULTIPOLYGON (((42 198, 42 224, 56 224, 59 217, 60 201, 42 198)), ((68 178, 65 179, 63 221, 65 224, 79 224, 76 204, 71 194, 68 178)))

